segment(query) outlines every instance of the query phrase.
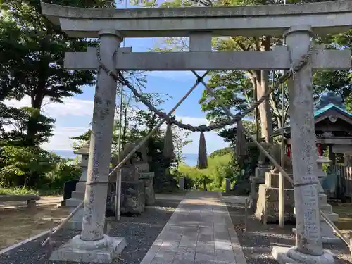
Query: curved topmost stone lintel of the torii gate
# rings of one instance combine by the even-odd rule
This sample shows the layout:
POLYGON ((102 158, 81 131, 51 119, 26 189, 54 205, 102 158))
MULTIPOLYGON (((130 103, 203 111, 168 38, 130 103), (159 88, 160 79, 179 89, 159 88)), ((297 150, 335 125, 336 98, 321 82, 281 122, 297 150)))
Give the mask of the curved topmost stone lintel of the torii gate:
POLYGON ((101 29, 124 37, 280 36, 294 25, 310 25, 314 34, 337 34, 352 27, 352 1, 266 6, 98 9, 42 4, 42 13, 70 37, 98 37, 101 29))

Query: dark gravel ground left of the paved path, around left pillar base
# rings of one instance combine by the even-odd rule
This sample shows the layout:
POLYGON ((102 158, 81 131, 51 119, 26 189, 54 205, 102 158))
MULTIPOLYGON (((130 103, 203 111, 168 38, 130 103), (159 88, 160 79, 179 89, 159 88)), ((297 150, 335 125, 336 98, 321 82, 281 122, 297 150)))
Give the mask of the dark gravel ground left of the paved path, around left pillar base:
MULTIPOLYGON (((120 256, 121 259, 115 260, 114 263, 139 264, 158 234, 163 230, 178 203, 179 201, 175 200, 157 200, 154 206, 147 207, 142 215, 122 217, 119 222, 112 221, 109 234, 115 237, 125 237, 127 240, 127 246, 120 256)), ((79 234, 79 232, 68 230, 58 232, 54 236, 54 247, 61 246, 75 234, 79 234)), ((43 240, 44 238, 31 241, 1 255, 0 264, 52 264, 49 261, 51 252, 49 246, 47 245, 44 249, 40 246, 43 240)))

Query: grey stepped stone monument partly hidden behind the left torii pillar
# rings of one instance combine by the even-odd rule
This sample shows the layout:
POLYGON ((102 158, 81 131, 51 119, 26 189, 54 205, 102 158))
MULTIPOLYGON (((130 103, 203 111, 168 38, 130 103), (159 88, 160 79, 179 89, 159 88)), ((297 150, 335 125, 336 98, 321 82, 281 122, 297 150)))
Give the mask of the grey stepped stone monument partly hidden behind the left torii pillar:
MULTIPOLYGON (((80 181, 76 184, 76 190, 73 191, 72 197, 66 200, 65 207, 70 207, 72 212, 75 208, 84 200, 84 193, 86 189, 87 182, 87 168, 88 168, 88 158, 89 158, 89 142, 84 144, 81 149, 74 151, 75 154, 81 156, 81 168, 82 174, 80 181)), ((67 223, 66 227, 68 229, 82 230, 82 218, 84 215, 84 208, 80 208, 73 218, 67 223)))

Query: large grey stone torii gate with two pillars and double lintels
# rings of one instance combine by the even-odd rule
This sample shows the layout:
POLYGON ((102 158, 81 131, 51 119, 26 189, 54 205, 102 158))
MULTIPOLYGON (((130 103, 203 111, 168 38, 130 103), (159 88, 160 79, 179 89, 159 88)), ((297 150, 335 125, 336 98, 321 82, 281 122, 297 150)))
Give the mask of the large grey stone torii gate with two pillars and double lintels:
MULTIPOLYGON (((70 37, 100 39, 101 62, 109 70, 289 70, 308 51, 312 34, 345 32, 352 2, 286 6, 88 9, 42 3, 42 13, 70 37), (281 36, 287 46, 272 51, 211 51, 212 36, 281 36), (120 48, 124 37, 190 37, 189 52, 148 53, 120 48)), ((65 54, 68 70, 96 70, 96 49, 65 54)), ((277 249, 280 263, 334 263, 323 251, 313 120, 313 70, 351 68, 351 51, 317 46, 289 80, 296 204, 296 248, 277 249)), ((103 234, 116 81, 99 69, 94 96, 82 233, 54 251, 51 260, 111 262, 124 239, 103 234)))

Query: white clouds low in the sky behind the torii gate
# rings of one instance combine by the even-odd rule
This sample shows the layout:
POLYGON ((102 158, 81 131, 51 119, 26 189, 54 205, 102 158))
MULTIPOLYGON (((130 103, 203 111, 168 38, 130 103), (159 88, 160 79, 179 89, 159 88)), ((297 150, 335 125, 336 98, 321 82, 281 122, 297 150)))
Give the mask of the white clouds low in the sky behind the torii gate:
MULTIPOLYGON (((50 141, 43 144, 43 148, 47 150, 72 150, 73 140, 70 137, 76 137, 83 134, 89 129, 89 122, 92 120, 93 102, 68 98, 63 100, 64 103, 44 102, 43 111, 46 115, 56 118, 57 126, 54 129, 54 136, 50 141), (68 124, 68 122, 70 124, 68 124), (75 125, 80 125, 75 127, 75 125)), ((25 97, 21 101, 10 100, 5 102, 8 106, 30 106, 29 97, 25 97)), ((191 125, 208 124, 205 118, 194 118, 189 116, 177 116, 177 120, 191 125)), ((165 128, 165 125, 163 126, 165 128)), ((215 132, 206 132, 206 143, 208 153, 217 149, 228 146, 215 132)), ((189 139, 191 144, 184 146, 184 153, 198 153, 199 132, 191 132, 189 139)))

